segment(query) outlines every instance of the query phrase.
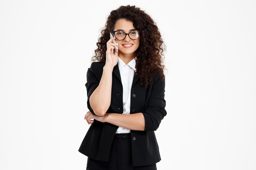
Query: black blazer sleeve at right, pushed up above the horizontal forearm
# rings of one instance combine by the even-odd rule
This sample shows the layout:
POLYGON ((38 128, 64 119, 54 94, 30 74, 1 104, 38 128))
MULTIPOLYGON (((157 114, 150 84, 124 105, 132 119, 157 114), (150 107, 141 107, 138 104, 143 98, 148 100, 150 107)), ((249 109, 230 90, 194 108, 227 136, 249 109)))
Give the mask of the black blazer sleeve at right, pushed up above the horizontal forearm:
POLYGON ((155 131, 159 127, 161 120, 167 112, 165 110, 166 101, 164 99, 165 80, 163 82, 153 82, 152 91, 148 99, 147 108, 142 114, 145 119, 144 131, 155 131))

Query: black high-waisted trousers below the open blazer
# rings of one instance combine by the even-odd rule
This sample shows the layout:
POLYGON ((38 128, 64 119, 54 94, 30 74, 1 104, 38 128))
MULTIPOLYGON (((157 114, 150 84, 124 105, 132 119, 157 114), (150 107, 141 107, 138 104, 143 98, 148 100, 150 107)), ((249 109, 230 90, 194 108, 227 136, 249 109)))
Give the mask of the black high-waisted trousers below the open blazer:
POLYGON ((86 170, 157 170, 156 163, 146 166, 132 166, 130 133, 116 133, 109 156, 108 162, 88 157, 86 170))

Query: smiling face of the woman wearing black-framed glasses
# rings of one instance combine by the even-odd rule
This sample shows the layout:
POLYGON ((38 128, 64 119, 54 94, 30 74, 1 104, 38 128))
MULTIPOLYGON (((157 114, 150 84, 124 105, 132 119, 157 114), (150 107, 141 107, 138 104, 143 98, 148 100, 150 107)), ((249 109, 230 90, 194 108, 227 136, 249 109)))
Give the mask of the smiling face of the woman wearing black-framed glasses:
MULTIPOLYGON (((116 21, 114 26, 114 31, 124 31, 125 33, 130 33, 130 31, 136 30, 133 27, 133 23, 126 19, 119 19, 116 21)), ((117 40, 117 39, 116 39, 117 40)), ((132 40, 128 35, 124 40, 117 40, 118 43, 118 55, 132 54, 135 57, 135 51, 139 47, 139 38, 137 40, 132 40), (124 46, 125 44, 132 44, 131 46, 124 46)))

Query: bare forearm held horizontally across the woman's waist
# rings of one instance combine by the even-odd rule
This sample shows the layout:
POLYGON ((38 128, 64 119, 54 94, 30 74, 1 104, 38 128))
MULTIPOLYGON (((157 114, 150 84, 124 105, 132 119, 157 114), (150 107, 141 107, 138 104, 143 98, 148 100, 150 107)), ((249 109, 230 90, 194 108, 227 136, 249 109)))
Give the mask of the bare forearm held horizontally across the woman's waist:
POLYGON ((106 113, 105 121, 127 128, 130 130, 144 130, 145 129, 145 119, 142 113, 134 114, 119 114, 119 113, 106 113))

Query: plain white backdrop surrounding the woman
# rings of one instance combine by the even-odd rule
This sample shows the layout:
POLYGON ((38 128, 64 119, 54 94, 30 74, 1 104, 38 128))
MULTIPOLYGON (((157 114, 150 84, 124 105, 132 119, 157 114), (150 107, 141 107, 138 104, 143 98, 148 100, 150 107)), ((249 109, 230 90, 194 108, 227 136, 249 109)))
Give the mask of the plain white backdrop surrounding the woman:
POLYGON ((1 0, 0 169, 85 169, 86 72, 110 11, 127 4, 167 46, 158 170, 255 170, 253 0, 1 0))

